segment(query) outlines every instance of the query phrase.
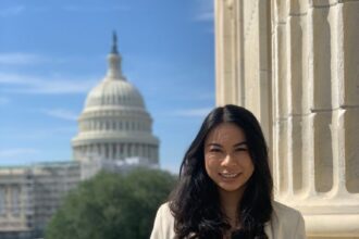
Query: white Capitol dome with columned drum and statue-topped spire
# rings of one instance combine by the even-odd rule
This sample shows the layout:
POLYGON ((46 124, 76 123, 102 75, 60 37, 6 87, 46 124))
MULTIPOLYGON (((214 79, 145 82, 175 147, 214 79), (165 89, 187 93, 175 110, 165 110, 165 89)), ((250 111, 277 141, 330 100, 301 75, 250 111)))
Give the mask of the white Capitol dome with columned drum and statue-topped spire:
POLYGON ((106 77, 88 93, 72 140, 74 160, 144 159, 158 164, 159 140, 140 92, 121 70, 116 36, 106 77))

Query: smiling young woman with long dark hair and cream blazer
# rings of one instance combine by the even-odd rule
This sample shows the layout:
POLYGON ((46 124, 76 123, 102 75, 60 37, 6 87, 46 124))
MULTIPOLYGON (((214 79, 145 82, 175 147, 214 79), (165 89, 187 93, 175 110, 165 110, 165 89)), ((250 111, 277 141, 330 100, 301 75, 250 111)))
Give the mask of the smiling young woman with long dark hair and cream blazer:
POLYGON ((301 214, 273 201, 272 189, 268 149, 253 114, 236 105, 216 108, 184 156, 151 239, 306 238, 301 214))

